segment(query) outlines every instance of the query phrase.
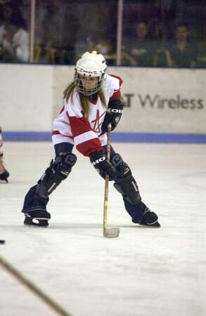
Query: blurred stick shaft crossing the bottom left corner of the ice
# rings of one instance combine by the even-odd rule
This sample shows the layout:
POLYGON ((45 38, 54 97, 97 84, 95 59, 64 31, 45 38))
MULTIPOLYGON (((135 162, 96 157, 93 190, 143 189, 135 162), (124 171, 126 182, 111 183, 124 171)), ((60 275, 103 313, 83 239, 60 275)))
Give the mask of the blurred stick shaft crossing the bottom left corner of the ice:
POLYGON ((18 279, 18 281, 20 283, 24 284, 25 287, 27 287, 27 289, 30 289, 30 291, 32 291, 34 294, 39 296, 39 298, 41 298, 41 300, 44 301, 44 303, 46 303, 53 310, 55 310, 58 313, 58 315, 72 316, 71 314, 69 314, 68 312, 63 310, 63 308, 60 305, 58 305, 58 303, 53 301, 52 298, 50 298, 43 291, 41 291, 41 289, 39 289, 36 285, 34 285, 34 283, 32 283, 29 279, 27 279, 24 275, 22 275, 22 273, 20 273, 18 270, 16 270, 10 263, 6 262, 6 260, 3 259, 1 256, 0 256, 0 265, 7 272, 9 272, 11 275, 13 275, 13 277, 18 279))

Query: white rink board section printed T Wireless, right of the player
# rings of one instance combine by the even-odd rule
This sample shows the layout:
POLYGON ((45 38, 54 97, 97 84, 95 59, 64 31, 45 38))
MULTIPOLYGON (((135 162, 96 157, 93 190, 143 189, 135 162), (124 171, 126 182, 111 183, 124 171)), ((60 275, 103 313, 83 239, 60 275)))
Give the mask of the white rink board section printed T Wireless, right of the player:
POLYGON ((206 133, 206 72, 121 68, 125 108, 120 131, 206 133), (128 123, 129 122, 129 123, 128 123))

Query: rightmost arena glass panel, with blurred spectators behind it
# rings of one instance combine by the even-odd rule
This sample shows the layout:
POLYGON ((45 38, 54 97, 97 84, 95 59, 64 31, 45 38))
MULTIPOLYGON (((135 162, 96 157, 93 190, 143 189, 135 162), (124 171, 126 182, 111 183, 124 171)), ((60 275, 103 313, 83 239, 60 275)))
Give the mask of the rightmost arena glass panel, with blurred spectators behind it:
POLYGON ((206 67, 205 1, 124 1, 122 65, 206 67))

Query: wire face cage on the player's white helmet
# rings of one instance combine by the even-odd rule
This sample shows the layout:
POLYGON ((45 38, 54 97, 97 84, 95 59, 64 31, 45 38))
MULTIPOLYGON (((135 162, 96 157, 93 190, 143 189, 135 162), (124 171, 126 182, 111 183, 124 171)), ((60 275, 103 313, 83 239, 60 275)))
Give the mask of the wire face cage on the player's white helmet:
POLYGON ((101 77, 93 77, 93 76, 85 76, 82 74, 79 74, 77 72, 77 70, 75 70, 75 86, 76 86, 76 89, 79 93, 82 93, 84 94, 84 96, 91 96, 92 94, 95 94, 97 93, 100 89, 101 89, 101 86, 103 84, 103 74, 101 75, 101 77), (83 84, 82 84, 82 77, 86 77, 86 78, 96 78, 97 79, 97 82, 96 82, 96 86, 94 88, 91 88, 91 89, 86 89, 84 88, 83 84))

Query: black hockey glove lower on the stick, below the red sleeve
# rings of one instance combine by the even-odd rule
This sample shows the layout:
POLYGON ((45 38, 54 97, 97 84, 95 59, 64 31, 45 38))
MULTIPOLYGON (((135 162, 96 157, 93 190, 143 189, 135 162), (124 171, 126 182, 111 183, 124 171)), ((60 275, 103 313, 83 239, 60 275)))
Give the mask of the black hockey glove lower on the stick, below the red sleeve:
POLYGON ((110 181, 115 179, 115 168, 107 159, 105 152, 91 152, 90 161, 102 178, 105 179, 105 175, 108 174, 110 181))

